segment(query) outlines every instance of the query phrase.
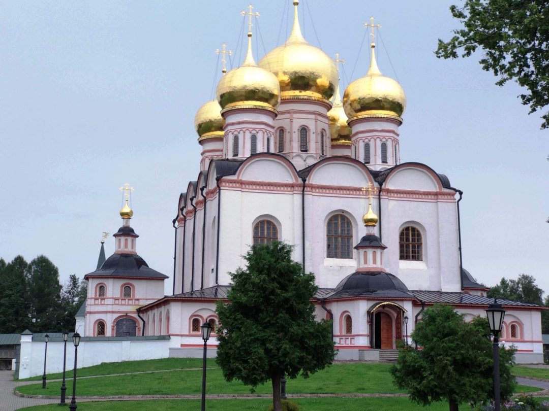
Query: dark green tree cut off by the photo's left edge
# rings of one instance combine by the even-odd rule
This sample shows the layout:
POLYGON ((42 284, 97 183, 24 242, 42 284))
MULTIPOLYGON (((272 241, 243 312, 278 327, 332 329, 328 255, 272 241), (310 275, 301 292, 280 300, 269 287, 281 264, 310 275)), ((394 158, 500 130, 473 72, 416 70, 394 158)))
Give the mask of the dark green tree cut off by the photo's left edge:
POLYGON ((29 327, 28 266, 20 255, 9 264, 0 260, 0 333, 22 333, 29 327))

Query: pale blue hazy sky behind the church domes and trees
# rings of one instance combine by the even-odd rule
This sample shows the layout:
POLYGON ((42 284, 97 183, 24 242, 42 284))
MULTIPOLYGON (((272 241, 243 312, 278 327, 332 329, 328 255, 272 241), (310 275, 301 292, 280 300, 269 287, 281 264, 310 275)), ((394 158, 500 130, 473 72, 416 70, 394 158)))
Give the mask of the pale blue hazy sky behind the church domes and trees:
MULTIPOLYGON (((458 0, 305 0, 307 41, 345 59, 341 90, 369 65, 365 21, 381 24, 378 65, 405 90, 402 162, 446 174, 463 191, 463 266, 493 286, 534 276, 549 293, 549 135, 516 83, 497 87, 481 53, 440 60, 460 27, 458 0)), ((291 0, 257 0, 256 61, 282 44, 291 0)), ((244 58, 236 0, 0 0, 0 258, 44 254, 61 282, 94 271, 102 232, 121 225, 130 183, 139 255, 173 278, 172 219, 200 145, 194 115, 221 74, 216 49, 244 58)), ((290 9, 290 19, 288 19, 290 9)), ((114 251, 112 237, 105 251, 114 251)))

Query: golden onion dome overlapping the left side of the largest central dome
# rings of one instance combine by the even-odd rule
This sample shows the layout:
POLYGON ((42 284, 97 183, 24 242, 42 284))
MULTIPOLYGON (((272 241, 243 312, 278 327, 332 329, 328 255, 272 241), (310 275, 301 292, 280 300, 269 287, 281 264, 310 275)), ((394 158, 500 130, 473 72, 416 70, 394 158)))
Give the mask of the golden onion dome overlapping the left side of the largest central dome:
POLYGON ((251 32, 248 52, 242 66, 229 71, 217 84, 217 101, 221 109, 250 107, 274 110, 280 103, 280 87, 273 73, 257 66, 251 53, 251 32))

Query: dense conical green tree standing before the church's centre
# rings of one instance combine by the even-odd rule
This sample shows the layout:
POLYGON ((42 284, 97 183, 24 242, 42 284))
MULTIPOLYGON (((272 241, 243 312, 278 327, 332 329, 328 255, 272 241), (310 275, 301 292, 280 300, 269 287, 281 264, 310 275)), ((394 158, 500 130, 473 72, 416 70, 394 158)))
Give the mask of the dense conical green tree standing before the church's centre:
POLYGON ((307 377, 332 363, 331 324, 315 319, 315 276, 292 260, 292 246, 254 246, 244 258, 245 269, 231 273, 229 304, 217 304, 217 363, 227 381, 271 381, 281 411, 282 375, 307 377))

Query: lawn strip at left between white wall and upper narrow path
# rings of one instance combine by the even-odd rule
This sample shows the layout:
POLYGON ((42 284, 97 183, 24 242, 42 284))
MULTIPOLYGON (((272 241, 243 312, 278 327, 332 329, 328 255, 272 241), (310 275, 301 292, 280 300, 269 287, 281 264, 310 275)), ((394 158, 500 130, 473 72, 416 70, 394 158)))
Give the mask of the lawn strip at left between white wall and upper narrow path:
MULTIPOLYGON (((208 358, 208 367, 217 367, 215 358, 208 358)), ((163 369, 202 368, 202 358, 161 358, 144 361, 123 361, 99 364, 98 366, 79 368, 78 376, 109 375, 135 373, 141 371, 156 371, 163 369)), ((66 373, 72 376, 72 371, 66 373)), ((63 378, 63 373, 47 374, 48 380, 63 378)), ((42 375, 26 378, 20 381, 42 381, 42 375)))

